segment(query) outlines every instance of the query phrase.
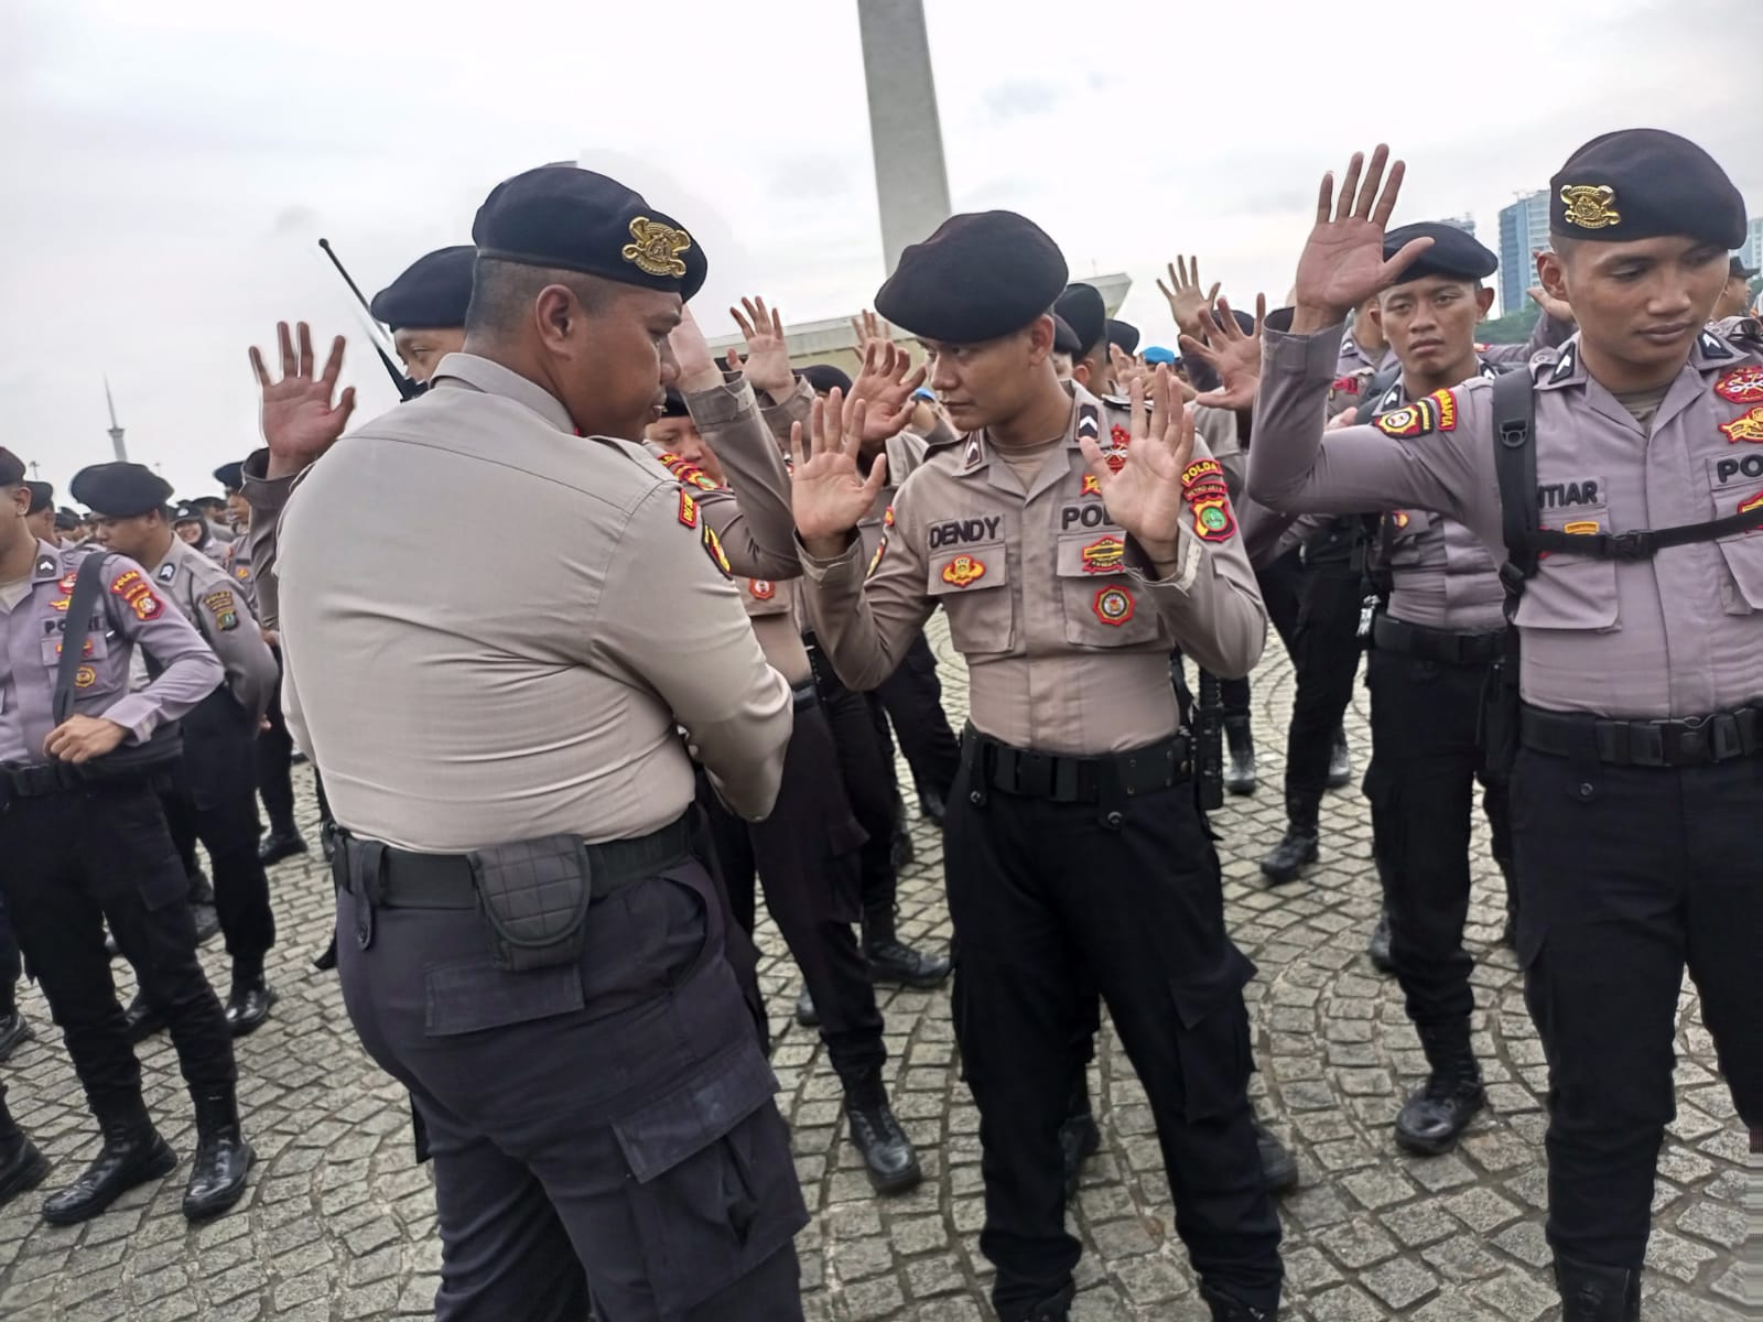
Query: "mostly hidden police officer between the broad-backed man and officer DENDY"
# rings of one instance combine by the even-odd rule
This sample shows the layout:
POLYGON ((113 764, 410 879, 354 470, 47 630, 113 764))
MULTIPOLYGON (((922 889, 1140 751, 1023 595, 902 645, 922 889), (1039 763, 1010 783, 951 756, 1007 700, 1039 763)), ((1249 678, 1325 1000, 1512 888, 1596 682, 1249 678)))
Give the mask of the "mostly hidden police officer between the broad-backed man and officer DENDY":
MULTIPOLYGON (((762 495, 748 506, 749 515, 767 508, 763 497, 769 488, 779 494, 788 490, 783 453, 762 421, 758 398, 776 400, 797 393, 783 335, 769 333, 762 301, 756 303, 756 312, 755 321, 763 330, 755 333, 753 323, 744 323, 749 345, 746 368, 728 384, 696 324, 681 324, 673 333, 681 388, 668 386, 666 414, 649 428, 651 448, 666 446, 663 457, 682 474, 682 486, 695 501, 696 494, 707 490, 703 481, 723 486, 719 457, 728 455, 732 465, 739 464, 748 476, 737 476, 737 499, 751 492, 762 495), (700 421, 702 427, 696 425, 700 421), (688 464, 688 457, 696 462, 688 464), (756 472, 762 465, 753 460, 760 460, 763 469, 756 472)), ((788 508, 779 506, 777 513, 785 516, 777 531, 788 541, 788 508)), ((827 1058, 844 1089, 850 1137, 862 1153, 869 1183, 880 1193, 904 1193, 924 1179, 924 1172, 911 1139, 894 1116, 882 1077, 887 1065, 882 1010, 876 1006, 864 948, 853 931, 862 915, 859 855, 867 834, 853 813, 843 758, 802 645, 795 605, 800 564, 783 566, 785 573, 779 576, 758 576, 749 571, 762 566, 763 573, 777 571, 751 552, 730 553, 726 543, 723 548, 753 635, 770 666, 790 680, 795 709, 783 783, 770 816, 763 821, 740 821, 714 795, 707 795, 710 802, 705 807, 714 825, 723 880, 737 922, 751 932, 753 878, 758 874, 765 888, 765 908, 802 969, 804 994, 816 1006, 827 1058)), ((867 740, 862 696, 855 703, 857 733, 867 740)), ((885 844, 887 788, 880 777, 874 779, 871 793, 880 797, 885 844)))

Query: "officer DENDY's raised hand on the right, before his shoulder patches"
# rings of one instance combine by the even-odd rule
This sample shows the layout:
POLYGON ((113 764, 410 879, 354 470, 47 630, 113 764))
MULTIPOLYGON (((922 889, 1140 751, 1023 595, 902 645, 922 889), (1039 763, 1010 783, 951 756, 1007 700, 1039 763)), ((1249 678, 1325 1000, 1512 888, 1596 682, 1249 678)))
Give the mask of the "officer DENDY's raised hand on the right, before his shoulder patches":
POLYGON ((1127 462, 1114 472, 1095 437, 1079 437, 1090 472, 1102 485, 1109 518, 1120 524, 1160 564, 1176 559, 1178 529, 1186 509, 1181 472, 1194 457, 1194 414, 1181 405, 1181 391, 1165 365, 1149 381, 1134 381, 1127 462), (1146 416, 1144 400, 1151 411, 1146 416))

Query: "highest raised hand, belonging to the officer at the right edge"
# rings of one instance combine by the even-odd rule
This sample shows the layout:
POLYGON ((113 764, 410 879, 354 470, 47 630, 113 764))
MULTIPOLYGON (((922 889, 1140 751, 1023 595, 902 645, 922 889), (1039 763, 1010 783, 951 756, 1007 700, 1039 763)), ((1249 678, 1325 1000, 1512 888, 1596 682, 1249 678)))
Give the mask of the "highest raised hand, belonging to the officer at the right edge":
POLYGON ((1384 182, 1389 148, 1379 145, 1372 152, 1370 169, 1365 153, 1354 152, 1347 178, 1340 185, 1340 204, 1335 203, 1335 171, 1322 176, 1317 190, 1317 222, 1298 259, 1298 280, 1292 291, 1294 331, 1312 331, 1333 326, 1372 294, 1387 289, 1417 256, 1432 247, 1430 238, 1405 243, 1395 257, 1384 259, 1384 229, 1402 196, 1402 175, 1407 166, 1396 160, 1384 182), (1363 180, 1361 180, 1363 175, 1363 180))

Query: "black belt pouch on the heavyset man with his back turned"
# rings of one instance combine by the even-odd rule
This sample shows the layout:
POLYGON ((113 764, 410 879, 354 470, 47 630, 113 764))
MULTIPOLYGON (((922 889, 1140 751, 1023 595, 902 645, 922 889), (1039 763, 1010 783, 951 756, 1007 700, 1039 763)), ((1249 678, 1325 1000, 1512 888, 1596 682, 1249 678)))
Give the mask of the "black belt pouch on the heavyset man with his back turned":
POLYGON ((467 858, 497 968, 529 973, 582 957, 592 878, 580 836, 494 844, 467 858))

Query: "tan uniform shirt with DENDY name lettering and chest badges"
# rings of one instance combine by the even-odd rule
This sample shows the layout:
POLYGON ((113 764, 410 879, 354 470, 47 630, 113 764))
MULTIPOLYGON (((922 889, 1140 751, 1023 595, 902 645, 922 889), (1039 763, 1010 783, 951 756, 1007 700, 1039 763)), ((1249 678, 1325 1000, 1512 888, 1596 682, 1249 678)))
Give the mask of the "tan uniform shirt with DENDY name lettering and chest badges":
POLYGON ((1174 733, 1171 649, 1227 677, 1255 665, 1266 610, 1216 460, 1195 444, 1195 464, 1211 467, 1171 529, 1176 571, 1155 580, 1077 446, 1082 405, 1100 411, 1105 449, 1127 418, 1070 390, 1061 451, 1028 492, 977 432, 933 449, 899 488, 867 582, 859 543, 834 561, 804 555, 807 615, 846 684, 880 684, 941 603, 968 661, 973 724, 1017 747, 1095 756, 1174 733))

